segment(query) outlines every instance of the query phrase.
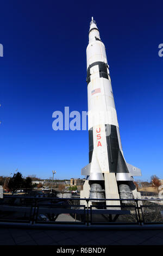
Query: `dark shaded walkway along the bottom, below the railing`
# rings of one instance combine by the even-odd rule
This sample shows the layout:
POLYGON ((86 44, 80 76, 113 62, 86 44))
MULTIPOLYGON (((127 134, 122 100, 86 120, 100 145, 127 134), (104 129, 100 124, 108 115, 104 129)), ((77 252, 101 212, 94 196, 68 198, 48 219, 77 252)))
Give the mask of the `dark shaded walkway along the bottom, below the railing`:
POLYGON ((0 227, 0 245, 163 245, 163 230, 50 230, 0 227))

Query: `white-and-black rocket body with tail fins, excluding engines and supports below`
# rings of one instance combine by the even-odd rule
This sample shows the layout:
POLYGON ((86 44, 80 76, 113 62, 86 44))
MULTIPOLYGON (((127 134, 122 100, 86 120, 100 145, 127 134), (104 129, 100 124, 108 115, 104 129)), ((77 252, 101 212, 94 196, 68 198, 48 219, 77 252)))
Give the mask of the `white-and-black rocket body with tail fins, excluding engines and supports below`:
POLYGON ((123 156, 105 46, 93 18, 86 57, 89 164, 82 174, 92 181, 104 180, 105 173, 115 173, 117 181, 133 181, 141 170, 128 164, 123 156))

